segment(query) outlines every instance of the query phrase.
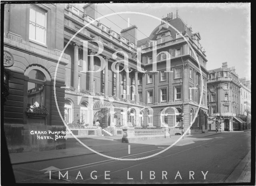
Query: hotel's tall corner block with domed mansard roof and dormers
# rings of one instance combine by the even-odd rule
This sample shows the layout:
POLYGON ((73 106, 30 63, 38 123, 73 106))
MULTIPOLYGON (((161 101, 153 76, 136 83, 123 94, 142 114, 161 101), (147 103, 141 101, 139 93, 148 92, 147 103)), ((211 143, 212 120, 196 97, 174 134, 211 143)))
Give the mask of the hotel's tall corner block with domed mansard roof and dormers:
POLYGON ((201 36, 199 32, 193 32, 191 27, 188 28, 178 14, 174 18, 170 13, 162 20, 176 28, 188 40, 195 53, 187 41, 163 21, 148 38, 138 41, 138 47, 143 52, 142 66, 147 70, 146 73, 139 74, 142 82, 138 86, 139 97, 143 103, 153 108, 154 126, 161 126, 165 123, 171 127, 171 134, 181 133, 180 117, 184 113, 184 130, 196 117, 189 133, 202 133, 202 131, 207 131, 208 121, 206 103, 208 71, 206 70, 206 54, 200 44, 201 36), (152 53, 152 40, 156 41, 157 55, 152 53), (166 53, 170 54, 172 72, 164 72, 168 58, 166 53), (154 57, 157 60, 157 73, 150 72, 153 69, 154 57), (196 58, 198 58, 202 73, 199 71, 196 58), (200 97, 202 97, 202 105, 198 111, 200 97), (198 115, 196 115, 197 111, 198 115), (172 116, 173 113, 176 113, 175 117, 172 116))

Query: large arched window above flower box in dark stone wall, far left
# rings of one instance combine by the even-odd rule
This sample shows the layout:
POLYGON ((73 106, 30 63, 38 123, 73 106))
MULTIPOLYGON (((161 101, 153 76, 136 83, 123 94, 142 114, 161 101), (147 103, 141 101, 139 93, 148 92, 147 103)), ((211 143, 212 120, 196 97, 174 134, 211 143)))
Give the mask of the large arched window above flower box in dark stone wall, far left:
POLYGON ((45 81, 44 74, 39 70, 31 70, 28 73, 28 102, 27 107, 45 105, 45 81))

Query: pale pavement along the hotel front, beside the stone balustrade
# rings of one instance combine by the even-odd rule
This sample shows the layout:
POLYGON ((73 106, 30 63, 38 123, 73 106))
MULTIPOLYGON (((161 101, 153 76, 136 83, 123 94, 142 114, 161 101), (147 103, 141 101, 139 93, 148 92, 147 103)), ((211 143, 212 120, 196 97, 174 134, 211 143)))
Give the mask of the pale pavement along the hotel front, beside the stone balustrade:
MULTIPOLYGON (((219 135, 221 133, 208 132, 194 135, 187 135, 184 139, 180 140, 176 145, 186 145, 191 144, 194 141, 206 140, 204 137, 209 137, 211 139, 212 135, 219 135)), ((154 140, 145 140, 133 142, 133 144, 143 144, 145 145, 171 145, 180 138, 180 135, 171 136, 170 138, 159 138, 154 140)), ((122 143, 122 136, 110 136, 110 137, 90 137, 80 139, 86 146, 93 148, 97 152, 109 152, 113 150, 120 150, 122 148, 127 148, 127 143, 122 143), (111 148, 111 149, 110 149, 111 148)), ((72 156, 81 156, 86 154, 94 154, 88 148, 85 148, 76 139, 66 140, 66 149, 58 150, 44 150, 36 152, 20 152, 20 153, 10 153, 10 160, 13 165, 25 164, 31 162, 39 162, 45 160, 54 160, 59 158, 66 158, 72 156)))

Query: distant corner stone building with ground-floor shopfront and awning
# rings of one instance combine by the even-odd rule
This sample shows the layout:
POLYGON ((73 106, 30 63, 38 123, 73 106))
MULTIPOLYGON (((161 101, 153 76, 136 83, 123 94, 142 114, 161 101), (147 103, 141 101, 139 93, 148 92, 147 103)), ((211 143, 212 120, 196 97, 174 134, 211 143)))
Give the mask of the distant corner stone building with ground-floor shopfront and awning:
MULTIPOLYGON (((222 118, 221 131, 241 131, 245 122, 240 118, 240 81, 234 67, 227 62, 209 71, 207 79, 207 103, 209 130, 216 130, 216 117, 222 118)), ((217 122, 220 130, 220 122, 217 122)))

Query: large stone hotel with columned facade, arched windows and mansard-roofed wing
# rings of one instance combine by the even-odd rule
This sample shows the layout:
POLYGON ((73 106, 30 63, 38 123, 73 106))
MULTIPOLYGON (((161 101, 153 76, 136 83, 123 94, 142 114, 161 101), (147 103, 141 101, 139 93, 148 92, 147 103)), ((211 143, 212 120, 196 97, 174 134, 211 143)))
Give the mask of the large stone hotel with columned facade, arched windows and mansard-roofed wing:
POLYGON ((128 126, 169 127, 175 135, 182 133, 183 113, 184 130, 196 117, 188 132, 208 131, 207 59, 199 32, 170 13, 148 38, 138 40, 139 25, 112 30, 95 21, 98 16, 96 4, 5 5, 4 131, 10 152, 65 148, 64 140, 36 140, 29 134, 66 130, 64 122, 88 129, 76 134, 84 136, 122 135, 128 126))

